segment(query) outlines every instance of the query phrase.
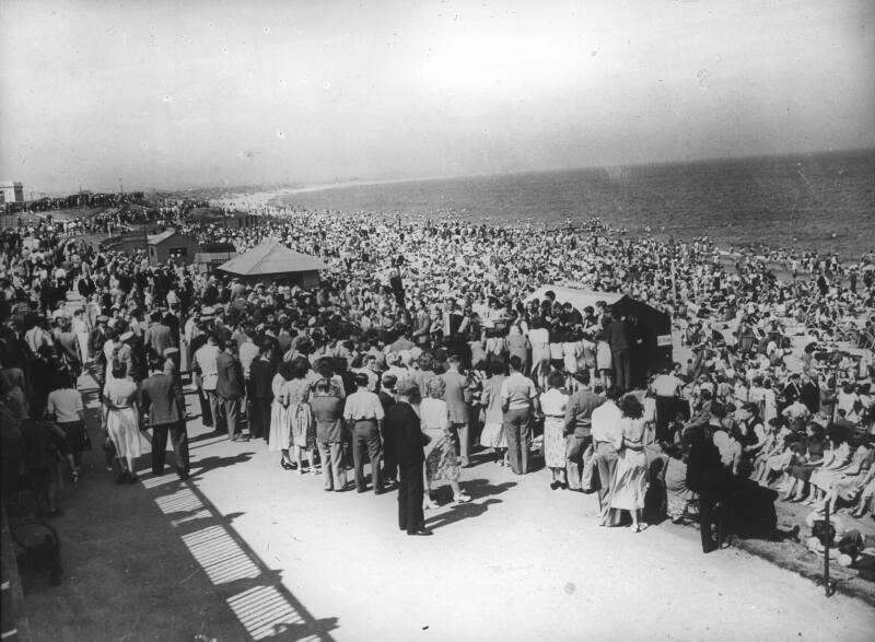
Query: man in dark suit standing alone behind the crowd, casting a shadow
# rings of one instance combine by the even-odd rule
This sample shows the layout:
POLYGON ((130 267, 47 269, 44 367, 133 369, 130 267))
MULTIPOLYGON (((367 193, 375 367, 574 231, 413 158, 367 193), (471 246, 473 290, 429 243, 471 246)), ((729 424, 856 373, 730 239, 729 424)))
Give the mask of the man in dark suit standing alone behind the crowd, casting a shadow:
POLYGON ((413 406, 420 393, 416 382, 405 380, 398 384, 398 400, 386 412, 386 447, 398 465, 398 528, 408 535, 431 535, 425 529, 422 514, 424 495, 423 470, 425 454, 422 450, 429 437, 422 434, 419 415, 413 406))

